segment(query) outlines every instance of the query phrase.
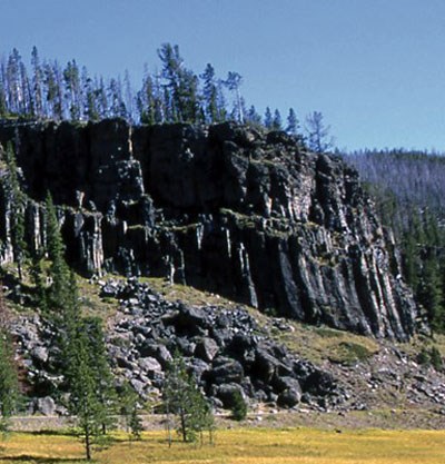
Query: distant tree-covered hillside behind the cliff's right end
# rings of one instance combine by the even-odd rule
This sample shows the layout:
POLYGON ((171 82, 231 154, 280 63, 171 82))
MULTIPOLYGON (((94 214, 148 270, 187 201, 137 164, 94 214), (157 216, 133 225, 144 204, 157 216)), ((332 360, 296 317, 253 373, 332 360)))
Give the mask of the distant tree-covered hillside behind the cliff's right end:
POLYGON ((436 329, 445 328, 445 156, 364 150, 345 155, 402 248, 405 277, 436 329))

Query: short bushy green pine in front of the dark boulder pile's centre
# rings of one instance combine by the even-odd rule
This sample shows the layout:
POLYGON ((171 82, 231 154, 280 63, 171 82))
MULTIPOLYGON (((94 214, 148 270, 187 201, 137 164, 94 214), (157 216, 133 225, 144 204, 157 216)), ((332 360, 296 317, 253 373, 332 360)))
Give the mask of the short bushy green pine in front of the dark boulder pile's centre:
POLYGON ((196 442, 198 434, 214 428, 214 415, 195 378, 187 372, 185 362, 176 354, 171 362, 164 388, 164 409, 178 416, 177 431, 184 442, 196 442))

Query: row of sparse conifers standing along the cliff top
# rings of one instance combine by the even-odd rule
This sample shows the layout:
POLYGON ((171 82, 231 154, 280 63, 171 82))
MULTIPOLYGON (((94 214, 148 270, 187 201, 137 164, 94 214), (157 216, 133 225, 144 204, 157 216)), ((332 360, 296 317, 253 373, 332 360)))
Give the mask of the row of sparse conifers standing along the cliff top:
POLYGON ((229 71, 221 79, 208 63, 198 75, 185 65, 179 47, 170 43, 158 49, 158 57, 160 71, 150 72, 146 65, 141 86, 135 90, 128 71, 123 78, 91 76, 76 60, 65 67, 57 60, 41 60, 36 47, 27 67, 13 49, 0 59, 0 118, 98 121, 119 117, 142 124, 212 124, 230 119, 294 135, 299 131, 293 108, 284 120, 278 109, 267 107, 261 116, 254 105, 247 106, 238 72, 229 71))

